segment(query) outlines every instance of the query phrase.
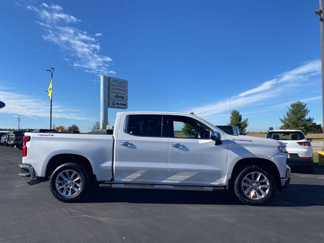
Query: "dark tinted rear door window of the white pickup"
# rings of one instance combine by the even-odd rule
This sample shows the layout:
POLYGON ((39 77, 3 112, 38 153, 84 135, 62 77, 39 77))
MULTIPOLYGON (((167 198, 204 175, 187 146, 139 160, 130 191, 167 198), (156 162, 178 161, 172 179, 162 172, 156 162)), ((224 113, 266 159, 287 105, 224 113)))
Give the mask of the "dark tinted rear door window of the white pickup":
POLYGON ((162 136, 162 115, 129 115, 126 132, 143 137, 162 136))

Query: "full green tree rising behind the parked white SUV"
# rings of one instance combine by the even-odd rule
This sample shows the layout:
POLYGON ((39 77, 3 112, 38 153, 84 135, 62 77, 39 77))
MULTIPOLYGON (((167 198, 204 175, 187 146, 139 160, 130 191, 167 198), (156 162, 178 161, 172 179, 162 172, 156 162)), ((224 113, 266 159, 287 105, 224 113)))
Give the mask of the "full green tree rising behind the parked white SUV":
POLYGON ((308 112, 309 110, 305 103, 299 100, 291 103, 284 118, 279 118, 282 123, 280 129, 298 129, 307 134, 312 130, 312 123, 314 121, 314 118, 306 117, 308 112))

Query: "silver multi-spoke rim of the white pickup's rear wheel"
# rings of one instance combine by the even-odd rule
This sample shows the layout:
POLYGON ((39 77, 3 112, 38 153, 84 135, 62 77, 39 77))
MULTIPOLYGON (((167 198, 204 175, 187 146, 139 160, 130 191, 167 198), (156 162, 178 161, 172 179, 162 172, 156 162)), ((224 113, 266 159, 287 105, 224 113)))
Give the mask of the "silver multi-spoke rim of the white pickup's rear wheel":
POLYGON ((83 182, 76 171, 65 170, 56 177, 55 186, 61 195, 71 197, 80 192, 83 182))

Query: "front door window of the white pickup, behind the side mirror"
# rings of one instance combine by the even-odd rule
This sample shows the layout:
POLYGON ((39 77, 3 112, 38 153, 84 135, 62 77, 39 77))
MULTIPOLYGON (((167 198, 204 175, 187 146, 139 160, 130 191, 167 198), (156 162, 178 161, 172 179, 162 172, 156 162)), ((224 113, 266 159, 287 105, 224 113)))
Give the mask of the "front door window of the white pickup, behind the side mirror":
POLYGON ((170 137, 209 139, 211 129, 186 116, 169 116, 170 137))

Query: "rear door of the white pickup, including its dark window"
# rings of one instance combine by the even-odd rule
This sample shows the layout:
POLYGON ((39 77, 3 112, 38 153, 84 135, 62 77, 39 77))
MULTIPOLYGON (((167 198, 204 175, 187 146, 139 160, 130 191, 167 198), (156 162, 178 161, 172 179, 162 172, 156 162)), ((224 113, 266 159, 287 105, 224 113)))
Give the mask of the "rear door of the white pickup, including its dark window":
POLYGON ((115 151, 116 181, 147 182, 168 176, 166 116, 128 114, 121 118, 115 151))

